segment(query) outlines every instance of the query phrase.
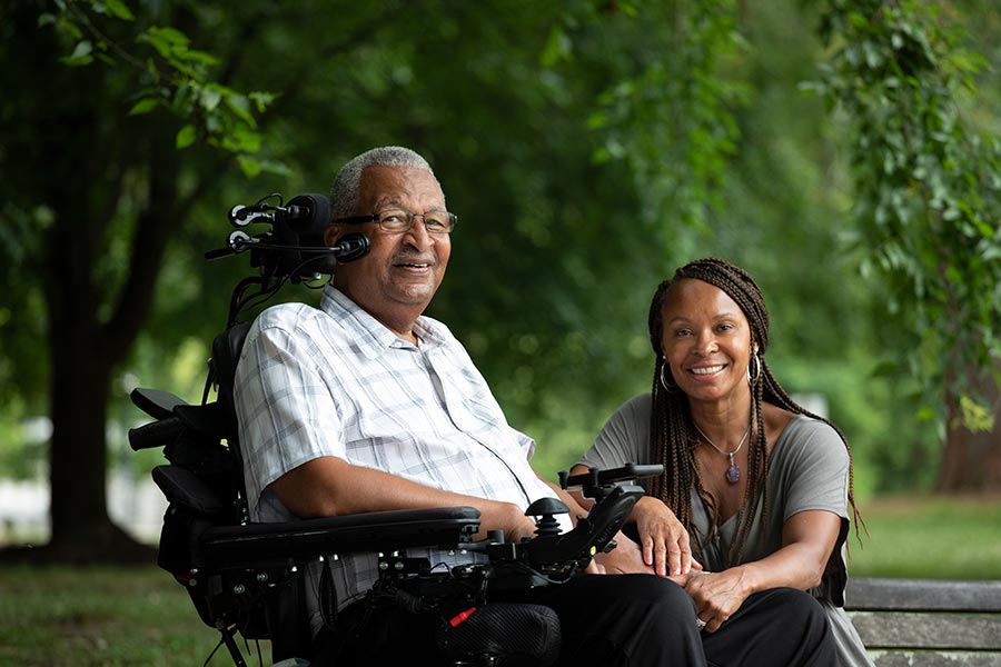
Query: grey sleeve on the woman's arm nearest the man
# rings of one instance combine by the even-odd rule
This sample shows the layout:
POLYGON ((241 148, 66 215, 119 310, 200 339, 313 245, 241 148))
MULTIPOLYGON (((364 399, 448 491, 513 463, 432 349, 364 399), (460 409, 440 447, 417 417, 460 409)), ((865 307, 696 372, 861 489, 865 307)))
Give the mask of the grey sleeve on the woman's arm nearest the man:
POLYGON ((641 394, 624 402, 608 418, 577 464, 589 468, 617 468, 650 462, 651 396, 641 394))

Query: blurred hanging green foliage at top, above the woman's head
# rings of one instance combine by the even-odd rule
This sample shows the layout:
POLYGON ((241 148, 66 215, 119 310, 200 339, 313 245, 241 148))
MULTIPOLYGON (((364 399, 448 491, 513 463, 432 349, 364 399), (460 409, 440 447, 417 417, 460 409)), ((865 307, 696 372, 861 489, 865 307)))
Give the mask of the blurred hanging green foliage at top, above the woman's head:
POLYGON ((746 43, 734 0, 682 0, 642 17, 651 30, 638 71, 598 97, 588 127, 603 137, 595 159, 630 165, 645 216, 667 238, 674 226, 665 220, 705 226, 721 203, 723 175, 737 151, 735 116, 747 93, 726 71, 746 43))

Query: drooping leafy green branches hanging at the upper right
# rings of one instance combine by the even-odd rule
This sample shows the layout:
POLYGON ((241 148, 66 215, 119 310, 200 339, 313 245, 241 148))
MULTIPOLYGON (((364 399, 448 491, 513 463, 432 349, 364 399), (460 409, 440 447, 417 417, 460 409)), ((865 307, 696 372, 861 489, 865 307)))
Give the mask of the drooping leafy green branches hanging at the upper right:
POLYGON ((894 325, 888 366, 920 378, 941 418, 1001 356, 1001 141, 965 115, 987 62, 928 2, 834 0, 821 32, 832 53, 815 88, 853 138, 856 243, 894 325))

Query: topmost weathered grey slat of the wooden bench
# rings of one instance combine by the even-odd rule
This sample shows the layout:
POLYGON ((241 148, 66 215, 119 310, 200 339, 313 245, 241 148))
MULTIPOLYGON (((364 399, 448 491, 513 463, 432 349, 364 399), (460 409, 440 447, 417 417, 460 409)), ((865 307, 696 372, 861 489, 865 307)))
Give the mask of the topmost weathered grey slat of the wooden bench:
POLYGON ((850 578, 845 609, 1001 613, 1001 581, 850 578))

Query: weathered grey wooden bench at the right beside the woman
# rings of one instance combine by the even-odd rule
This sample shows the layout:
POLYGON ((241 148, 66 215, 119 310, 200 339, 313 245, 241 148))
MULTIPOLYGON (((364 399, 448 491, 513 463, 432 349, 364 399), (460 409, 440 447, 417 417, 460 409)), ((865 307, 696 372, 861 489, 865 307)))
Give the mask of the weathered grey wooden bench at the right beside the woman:
POLYGON ((849 579, 844 608, 878 667, 1001 667, 1001 581, 849 579))

